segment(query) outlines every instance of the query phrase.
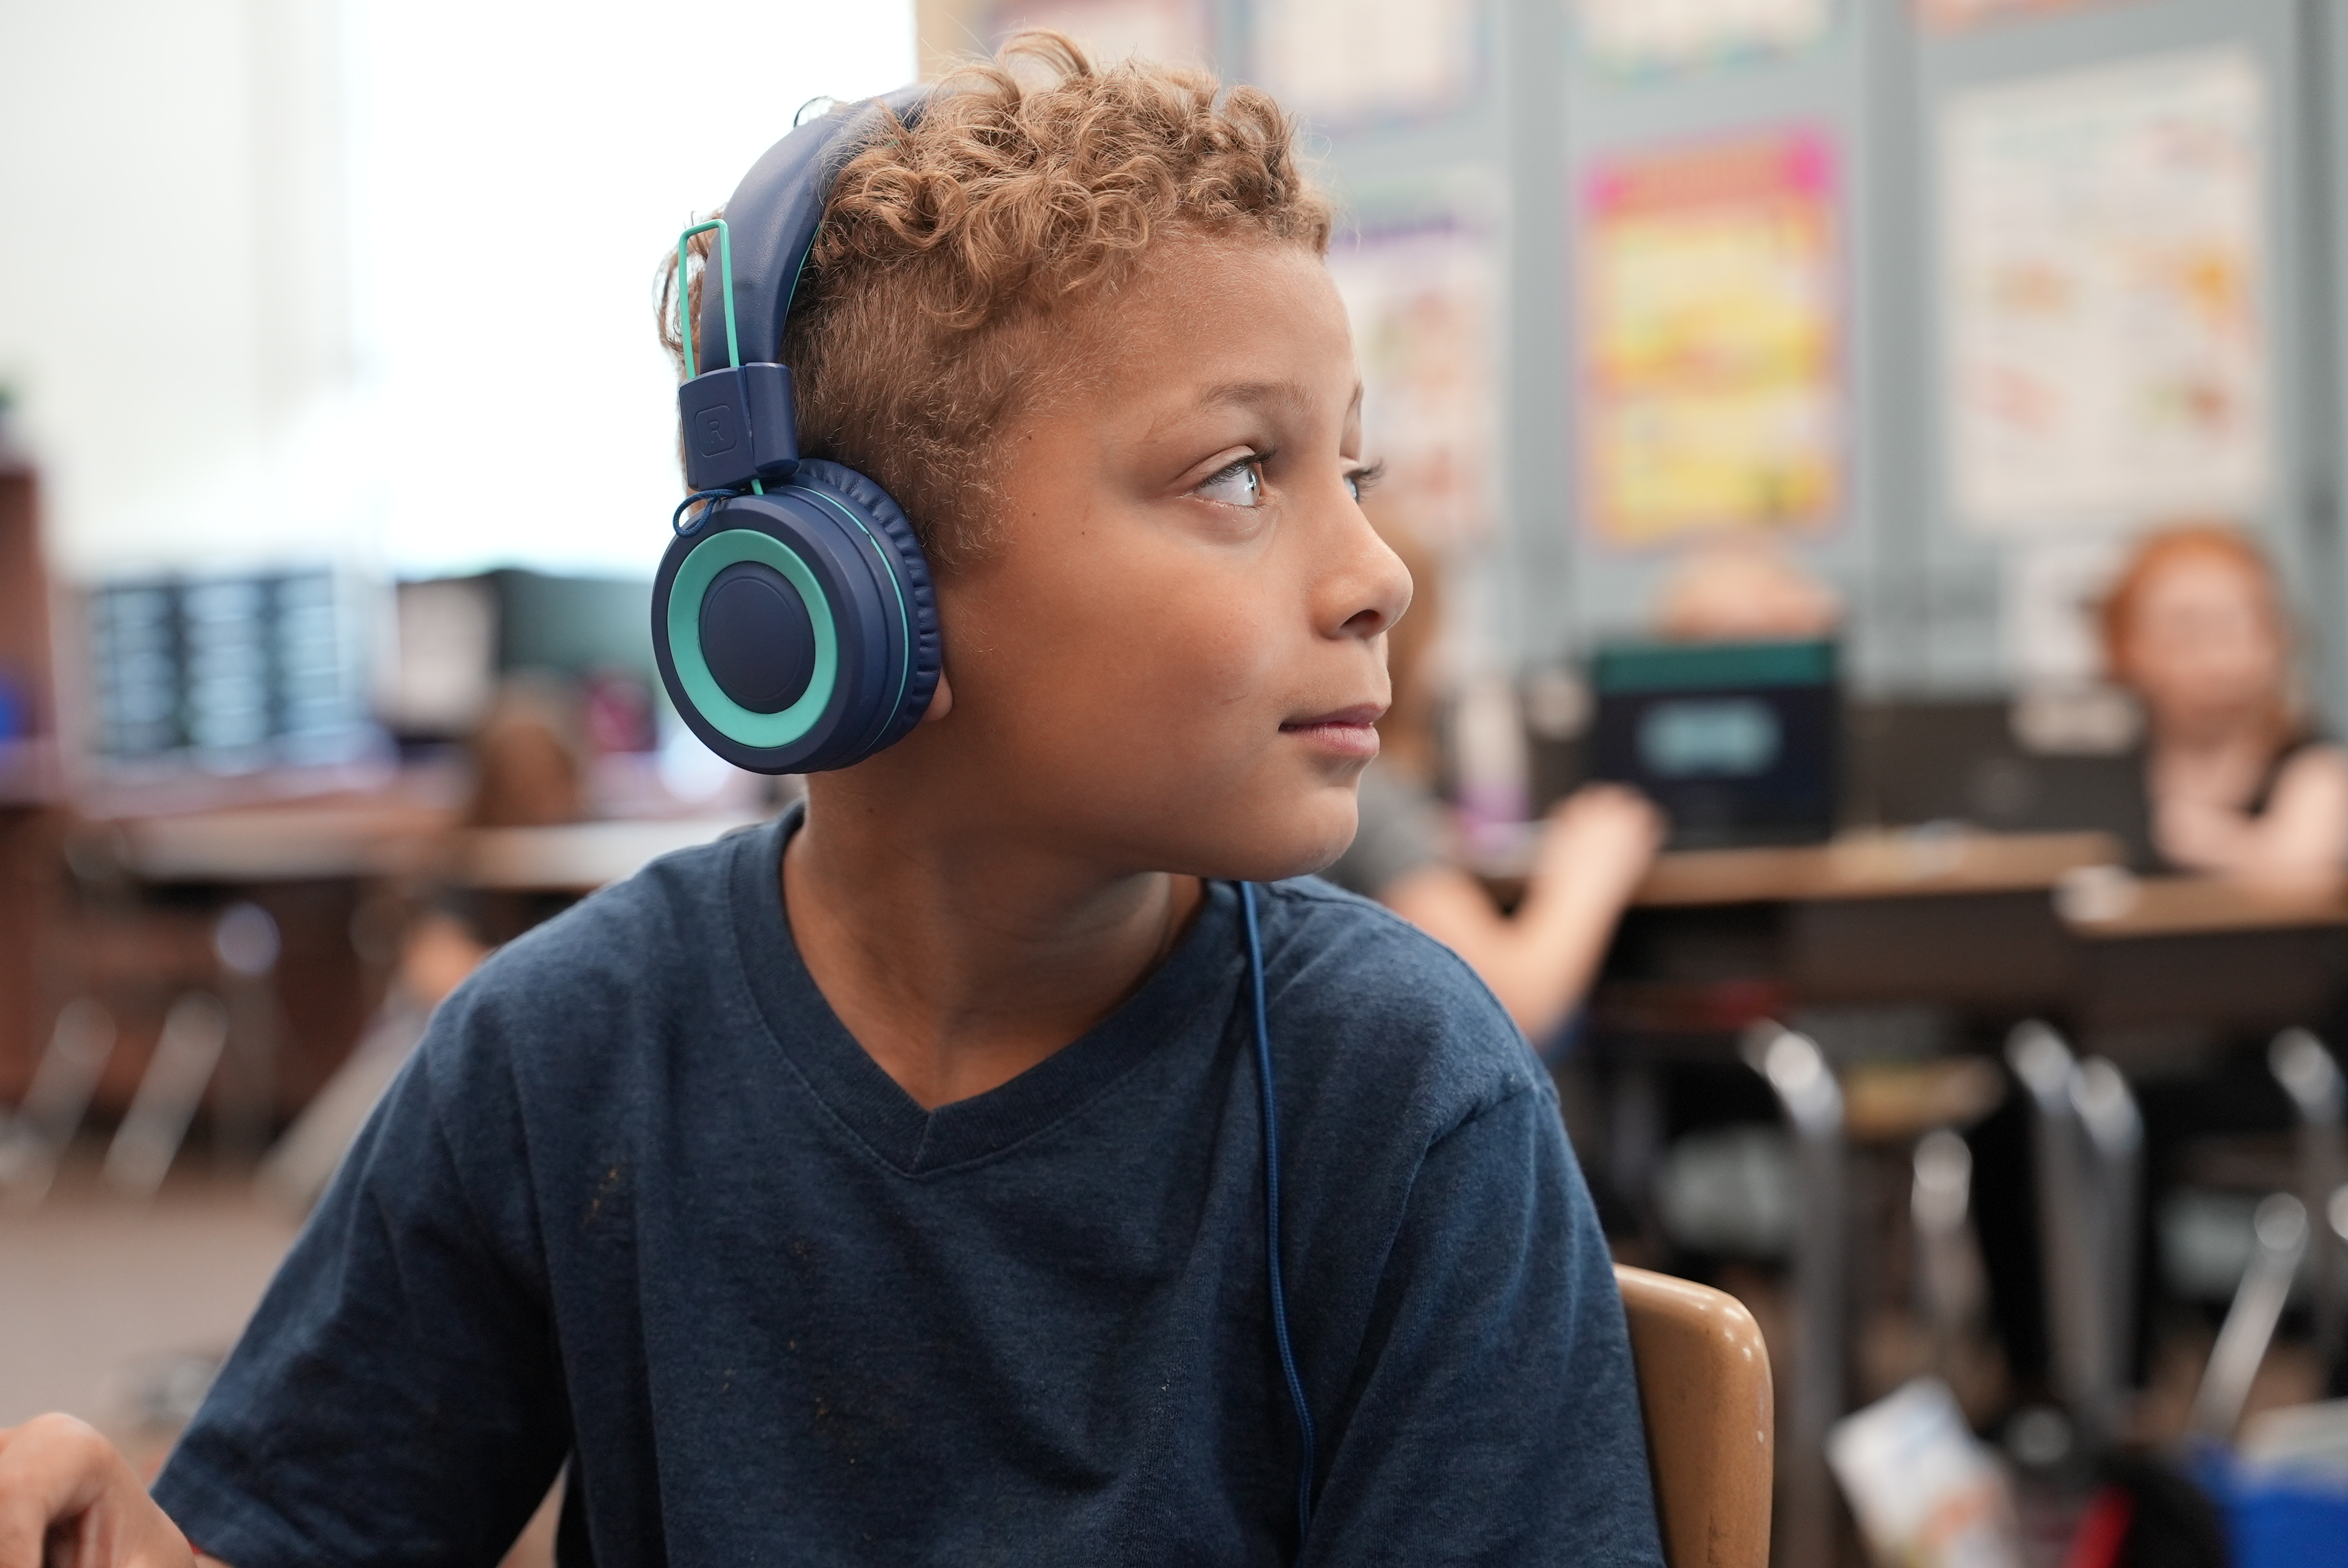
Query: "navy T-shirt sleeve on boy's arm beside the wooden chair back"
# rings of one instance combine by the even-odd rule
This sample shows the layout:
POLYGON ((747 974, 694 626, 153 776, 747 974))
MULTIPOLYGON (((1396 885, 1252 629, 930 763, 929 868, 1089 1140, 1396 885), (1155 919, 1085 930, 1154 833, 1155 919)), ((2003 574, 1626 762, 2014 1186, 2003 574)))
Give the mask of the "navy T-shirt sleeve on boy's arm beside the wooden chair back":
POLYGON ((1301 1563, 1660 1568, 1622 1298, 1545 1091, 1428 1150, 1336 1415, 1301 1563))

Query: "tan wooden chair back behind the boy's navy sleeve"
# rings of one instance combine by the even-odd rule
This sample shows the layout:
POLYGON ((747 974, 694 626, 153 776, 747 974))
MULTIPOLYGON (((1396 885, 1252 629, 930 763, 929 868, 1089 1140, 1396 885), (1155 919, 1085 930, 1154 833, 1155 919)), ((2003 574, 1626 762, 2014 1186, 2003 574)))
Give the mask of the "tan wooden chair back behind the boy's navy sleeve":
POLYGON ((1672 1568, 1766 1568, 1775 1401, 1752 1312, 1712 1286, 1615 1268, 1672 1568))

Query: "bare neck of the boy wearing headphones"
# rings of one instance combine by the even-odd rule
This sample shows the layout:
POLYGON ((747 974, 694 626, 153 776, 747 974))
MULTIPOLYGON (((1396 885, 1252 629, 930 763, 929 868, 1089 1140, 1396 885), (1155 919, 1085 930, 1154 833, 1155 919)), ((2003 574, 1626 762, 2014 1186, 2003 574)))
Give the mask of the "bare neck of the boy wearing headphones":
POLYGON ((923 1108, 1026 1073, 1134 993, 1197 913, 1197 878, 1115 873, 937 812, 857 768, 808 782, 782 866, 824 1000, 923 1108))

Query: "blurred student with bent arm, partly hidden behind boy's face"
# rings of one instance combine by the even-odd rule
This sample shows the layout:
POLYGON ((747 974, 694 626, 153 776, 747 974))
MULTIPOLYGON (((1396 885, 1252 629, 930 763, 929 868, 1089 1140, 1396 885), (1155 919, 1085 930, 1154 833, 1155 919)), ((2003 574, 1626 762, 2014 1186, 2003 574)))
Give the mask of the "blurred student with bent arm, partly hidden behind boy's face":
POLYGON ((1514 913, 1458 866, 1435 796, 1435 634, 1442 563, 1390 507, 1371 521, 1411 568, 1411 615, 1385 641, 1395 702, 1378 721, 1378 761, 1362 775, 1362 826, 1329 880, 1378 899, 1491 986, 1533 1045, 1545 1045, 1597 979, 1622 908, 1662 847, 1662 815, 1620 784, 1566 796, 1540 826, 1514 913))

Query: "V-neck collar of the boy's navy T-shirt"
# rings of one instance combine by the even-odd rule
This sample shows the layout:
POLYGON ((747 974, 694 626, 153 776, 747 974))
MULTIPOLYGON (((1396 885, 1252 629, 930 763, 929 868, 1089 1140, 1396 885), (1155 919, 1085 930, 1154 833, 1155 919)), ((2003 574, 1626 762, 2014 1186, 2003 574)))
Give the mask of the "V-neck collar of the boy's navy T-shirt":
POLYGON ((1216 1000, 1228 1007, 1240 960, 1237 897, 1228 883, 1207 883, 1188 934, 1113 1014, 1019 1077, 923 1110, 831 1012, 791 937, 791 915, 782 904, 782 850, 803 819, 805 805, 794 805, 733 843, 733 927, 742 976, 775 1045, 815 1096, 906 1176, 965 1164, 1043 1131, 1181 1033, 1202 1007, 1216 1000))

